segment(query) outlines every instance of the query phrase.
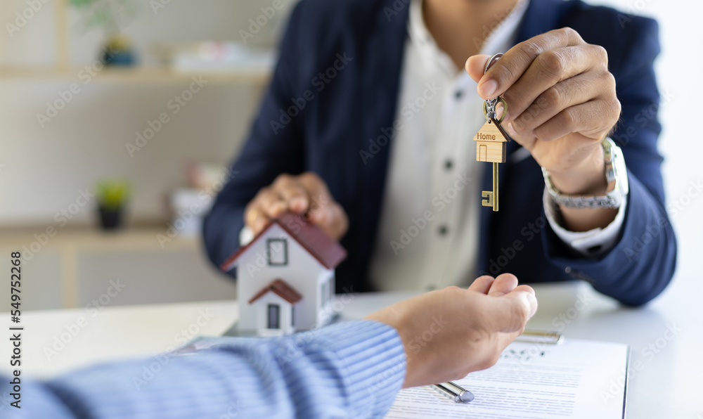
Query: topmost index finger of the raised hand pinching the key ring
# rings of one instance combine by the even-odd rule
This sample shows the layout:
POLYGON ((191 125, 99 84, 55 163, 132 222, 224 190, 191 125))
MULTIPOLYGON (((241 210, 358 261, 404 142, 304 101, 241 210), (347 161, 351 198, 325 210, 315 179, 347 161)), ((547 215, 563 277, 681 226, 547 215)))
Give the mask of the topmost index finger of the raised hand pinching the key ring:
POLYGON ((522 77, 534 59, 541 53, 563 46, 579 44, 583 44, 583 39, 570 27, 552 30, 517 44, 492 65, 486 75, 482 77, 478 86, 479 96, 484 99, 492 99, 503 94, 522 77))

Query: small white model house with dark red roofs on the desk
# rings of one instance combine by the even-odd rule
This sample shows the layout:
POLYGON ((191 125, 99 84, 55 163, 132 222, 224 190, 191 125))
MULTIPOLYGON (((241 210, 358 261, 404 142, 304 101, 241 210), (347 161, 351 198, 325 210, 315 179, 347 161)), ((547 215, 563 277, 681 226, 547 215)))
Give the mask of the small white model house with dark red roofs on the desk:
POLYGON ((282 214, 221 266, 236 273, 239 329, 271 336, 327 324, 335 268, 345 257, 339 243, 304 217, 282 214))

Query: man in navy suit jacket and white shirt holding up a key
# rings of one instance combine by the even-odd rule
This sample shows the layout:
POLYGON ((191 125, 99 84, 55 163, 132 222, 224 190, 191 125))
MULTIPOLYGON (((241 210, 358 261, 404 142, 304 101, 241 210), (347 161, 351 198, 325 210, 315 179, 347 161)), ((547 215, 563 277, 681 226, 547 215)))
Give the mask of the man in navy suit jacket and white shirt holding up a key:
POLYGON ((653 20, 578 0, 302 0, 205 221, 209 257, 290 210, 347 249, 337 292, 510 272, 644 304, 676 265, 657 37, 653 20), (498 96, 515 141, 493 212, 472 136, 498 96))

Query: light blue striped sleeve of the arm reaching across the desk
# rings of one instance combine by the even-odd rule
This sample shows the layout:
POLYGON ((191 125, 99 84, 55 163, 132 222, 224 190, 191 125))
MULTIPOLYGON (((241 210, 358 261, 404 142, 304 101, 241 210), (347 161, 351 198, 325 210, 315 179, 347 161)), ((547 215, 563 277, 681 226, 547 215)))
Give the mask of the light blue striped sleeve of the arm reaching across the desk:
POLYGON ((375 321, 208 342, 209 349, 198 352, 117 361, 27 383, 22 408, 2 406, 0 416, 381 418, 405 378, 398 333, 375 321))

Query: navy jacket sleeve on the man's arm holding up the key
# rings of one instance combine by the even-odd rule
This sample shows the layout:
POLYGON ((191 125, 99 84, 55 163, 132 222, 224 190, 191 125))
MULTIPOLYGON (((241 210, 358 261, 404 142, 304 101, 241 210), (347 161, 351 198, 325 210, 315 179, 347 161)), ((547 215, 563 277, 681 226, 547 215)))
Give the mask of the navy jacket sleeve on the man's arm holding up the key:
POLYGON ((657 152, 661 131, 653 67, 659 53, 657 23, 626 15, 620 18, 620 33, 629 36, 625 55, 617 60, 617 68, 611 68, 622 105, 621 120, 611 137, 623 149, 630 192, 619 240, 598 259, 586 259, 570 253, 550 228, 542 234, 550 262, 596 290, 636 306, 659 295, 671 281, 676 238, 664 207, 662 157, 657 152))

